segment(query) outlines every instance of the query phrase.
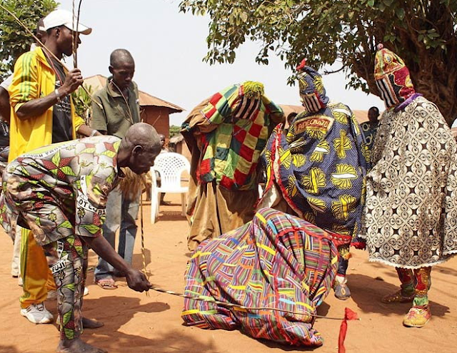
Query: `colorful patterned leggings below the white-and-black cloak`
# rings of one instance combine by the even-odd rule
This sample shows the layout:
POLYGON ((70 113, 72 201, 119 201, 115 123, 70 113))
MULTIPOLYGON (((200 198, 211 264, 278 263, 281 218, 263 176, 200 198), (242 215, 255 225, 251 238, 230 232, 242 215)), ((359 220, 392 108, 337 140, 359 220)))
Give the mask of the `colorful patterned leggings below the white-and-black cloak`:
POLYGON ((401 293, 408 296, 414 293, 414 306, 428 305, 428 290, 431 287, 431 267, 414 270, 396 267, 401 281, 401 293))

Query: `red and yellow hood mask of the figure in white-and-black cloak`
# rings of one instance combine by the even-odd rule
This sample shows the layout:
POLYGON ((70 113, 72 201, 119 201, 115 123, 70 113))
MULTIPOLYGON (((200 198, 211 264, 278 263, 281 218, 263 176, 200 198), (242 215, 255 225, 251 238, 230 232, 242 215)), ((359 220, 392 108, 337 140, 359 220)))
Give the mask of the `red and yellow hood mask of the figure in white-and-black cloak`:
POLYGON ((374 78, 387 108, 403 103, 416 93, 409 70, 401 57, 384 48, 383 44, 378 44, 374 78))

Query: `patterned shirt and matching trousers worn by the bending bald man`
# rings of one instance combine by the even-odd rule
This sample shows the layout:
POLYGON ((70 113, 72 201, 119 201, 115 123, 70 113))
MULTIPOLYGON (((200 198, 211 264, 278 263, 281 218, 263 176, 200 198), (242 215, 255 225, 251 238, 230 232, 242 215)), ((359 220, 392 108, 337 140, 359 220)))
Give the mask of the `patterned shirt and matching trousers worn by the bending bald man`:
POLYGON ((1 225, 9 234, 16 224, 28 227, 49 253, 62 339, 82 332, 87 247, 81 237, 102 235, 106 198, 121 173, 120 143, 114 136, 55 143, 20 155, 3 176, 1 225))

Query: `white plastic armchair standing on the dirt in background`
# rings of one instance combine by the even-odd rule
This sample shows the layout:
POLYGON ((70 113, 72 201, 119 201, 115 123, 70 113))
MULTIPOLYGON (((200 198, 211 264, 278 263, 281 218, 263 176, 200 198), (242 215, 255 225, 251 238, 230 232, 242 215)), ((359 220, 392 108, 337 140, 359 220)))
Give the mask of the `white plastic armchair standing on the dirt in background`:
POLYGON ((189 187, 181 185, 181 175, 184 171, 188 174, 191 164, 184 155, 174 152, 161 153, 151 167, 151 222, 155 223, 159 216, 161 193, 180 193, 182 215, 186 215, 186 193, 189 187), (160 175, 161 185, 157 185, 156 172, 160 175))

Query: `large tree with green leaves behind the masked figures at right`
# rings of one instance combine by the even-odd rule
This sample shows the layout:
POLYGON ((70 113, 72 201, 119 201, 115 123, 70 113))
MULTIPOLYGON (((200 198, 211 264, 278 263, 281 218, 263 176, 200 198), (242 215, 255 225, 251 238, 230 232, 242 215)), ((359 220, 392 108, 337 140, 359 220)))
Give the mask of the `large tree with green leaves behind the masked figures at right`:
POLYGON ((180 8, 210 16, 211 64, 233 63, 250 39, 261 43, 258 63, 271 54, 289 68, 302 58, 316 68, 339 63, 348 86, 376 95, 374 54, 383 43, 448 122, 457 116, 456 0, 182 0, 180 8))

